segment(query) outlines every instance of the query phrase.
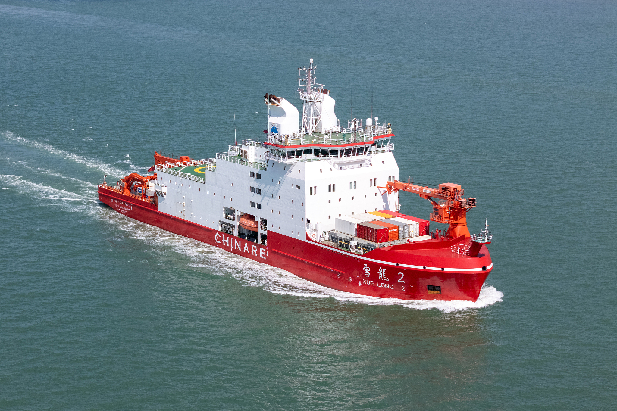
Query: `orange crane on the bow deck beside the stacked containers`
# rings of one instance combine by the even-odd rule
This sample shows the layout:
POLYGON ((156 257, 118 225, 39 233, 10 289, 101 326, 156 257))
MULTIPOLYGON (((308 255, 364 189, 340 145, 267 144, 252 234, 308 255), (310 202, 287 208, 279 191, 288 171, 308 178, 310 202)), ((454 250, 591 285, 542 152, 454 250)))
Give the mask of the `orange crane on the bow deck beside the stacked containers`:
POLYGON ((471 237, 467 228, 467 211, 476 206, 476 199, 473 197, 463 198, 464 190, 460 184, 447 182, 439 184, 439 187, 435 189, 429 189, 410 182, 388 181, 386 187, 381 188, 386 189, 388 194, 399 190, 418 193, 420 197, 431 201, 433 205, 433 213, 431 213, 429 219, 449 225, 445 234, 446 237, 456 238, 460 235, 471 237), (433 198, 438 200, 435 201, 433 198))

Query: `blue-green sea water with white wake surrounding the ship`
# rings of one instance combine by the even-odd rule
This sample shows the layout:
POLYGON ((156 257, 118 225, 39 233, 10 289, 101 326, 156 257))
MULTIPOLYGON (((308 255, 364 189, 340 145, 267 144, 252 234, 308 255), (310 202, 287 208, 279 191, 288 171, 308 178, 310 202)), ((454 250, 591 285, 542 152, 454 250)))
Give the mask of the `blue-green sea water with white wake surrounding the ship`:
POLYGON ((616 21, 610 1, 2 0, 0 408, 614 409, 616 21), (234 112, 262 136, 263 94, 300 107, 309 59, 341 124, 392 124, 400 179, 478 198, 476 303, 329 290, 97 200, 154 150, 225 151, 234 112))

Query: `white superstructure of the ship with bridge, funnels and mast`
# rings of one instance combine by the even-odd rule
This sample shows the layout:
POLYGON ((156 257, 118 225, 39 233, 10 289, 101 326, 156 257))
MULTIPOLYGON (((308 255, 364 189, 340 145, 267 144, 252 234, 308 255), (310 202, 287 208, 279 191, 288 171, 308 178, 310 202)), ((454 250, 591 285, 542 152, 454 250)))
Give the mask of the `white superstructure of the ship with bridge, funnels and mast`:
POLYGON ((262 244, 271 230, 325 240, 339 216, 398 211, 398 194, 379 188, 399 179, 389 124, 353 119, 340 128, 312 60, 302 70, 302 124, 296 107, 267 94, 265 139, 230 145, 216 158, 156 166, 158 210, 262 244), (239 226, 245 214, 255 232, 239 226))

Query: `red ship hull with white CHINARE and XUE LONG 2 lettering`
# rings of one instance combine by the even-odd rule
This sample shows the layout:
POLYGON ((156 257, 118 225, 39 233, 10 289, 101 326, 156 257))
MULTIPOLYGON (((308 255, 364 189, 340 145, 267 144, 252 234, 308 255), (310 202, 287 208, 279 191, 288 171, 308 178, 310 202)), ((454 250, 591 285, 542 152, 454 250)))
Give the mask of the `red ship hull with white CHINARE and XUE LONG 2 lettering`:
POLYGON ((492 269, 486 246, 482 246, 476 258, 455 253, 444 258, 440 256, 442 250, 418 252, 389 247, 358 255, 313 242, 308 237, 309 241, 301 241, 271 231, 265 246, 160 213, 156 205, 104 185, 99 185, 98 192, 99 200, 130 218, 279 267, 324 287, 359 295, 476 301, 492 269))

